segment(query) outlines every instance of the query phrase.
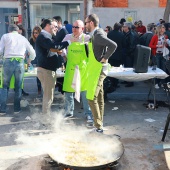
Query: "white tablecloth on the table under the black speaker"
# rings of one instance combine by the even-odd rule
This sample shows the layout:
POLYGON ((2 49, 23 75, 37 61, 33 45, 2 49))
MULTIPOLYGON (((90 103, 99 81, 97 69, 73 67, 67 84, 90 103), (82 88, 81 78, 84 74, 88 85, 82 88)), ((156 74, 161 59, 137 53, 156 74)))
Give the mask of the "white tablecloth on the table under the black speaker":
POLYGON ((109 77, 114 77, 124 81, 144 81, 153 78, 165 79, 168 75, 159 68, 152 70, 148 68, 147 73, 135 73, 133 68, 112 67, 108 73, 109 77))

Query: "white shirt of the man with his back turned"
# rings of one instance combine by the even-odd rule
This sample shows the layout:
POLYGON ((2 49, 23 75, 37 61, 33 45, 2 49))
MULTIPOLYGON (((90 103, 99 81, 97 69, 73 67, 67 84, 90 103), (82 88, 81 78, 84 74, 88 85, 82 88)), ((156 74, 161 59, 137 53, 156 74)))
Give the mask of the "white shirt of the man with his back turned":
POLYGON ((35 50, 29 41, 17 31, 4 34, 0 41, 0 55, 4 58, 20 57, 25 58, 26 50, 29 52, 29 58, 34 60, 35 50))

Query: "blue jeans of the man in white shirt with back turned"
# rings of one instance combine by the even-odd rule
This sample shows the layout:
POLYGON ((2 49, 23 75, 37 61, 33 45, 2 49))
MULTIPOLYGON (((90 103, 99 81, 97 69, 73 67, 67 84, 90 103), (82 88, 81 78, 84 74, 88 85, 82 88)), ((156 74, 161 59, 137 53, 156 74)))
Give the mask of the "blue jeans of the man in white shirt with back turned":
POLYGON ((3 63, 3 88, 0 89, 0 110, 6 112, 6 103, 8 98, 8 89, 12 75, 15 77, 15 96, 14 111, 20 111, 20 101, 22 95, 22 81, 24 77, 24 59, 16 61, 15 59, 5 59, 3 63))

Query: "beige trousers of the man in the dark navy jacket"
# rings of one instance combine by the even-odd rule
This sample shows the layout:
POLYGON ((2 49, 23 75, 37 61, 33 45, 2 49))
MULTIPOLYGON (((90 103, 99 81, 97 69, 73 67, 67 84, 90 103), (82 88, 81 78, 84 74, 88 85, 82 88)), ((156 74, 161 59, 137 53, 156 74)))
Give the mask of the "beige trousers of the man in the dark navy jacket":
POLYGON ((54 98, 54 88, 57 77, 56 72, 38 67, 37 77, 41 81, 43 89, 42 113, 44 116, 50 116, 51 105, 54 98))

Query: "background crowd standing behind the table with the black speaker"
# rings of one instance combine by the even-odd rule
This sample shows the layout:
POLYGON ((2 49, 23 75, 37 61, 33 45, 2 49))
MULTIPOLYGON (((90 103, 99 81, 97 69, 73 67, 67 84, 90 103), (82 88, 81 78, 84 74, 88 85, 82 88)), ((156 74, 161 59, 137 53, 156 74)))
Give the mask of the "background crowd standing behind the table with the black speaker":
MULTIPOLYGON (((163 19, 160 19, 158 23, 149 23, 147 27, 145 27, 141 20, 131 23, 126 22, 126 20, 122 18, 120 22, 114 24, 113 28, 106 26, 105 31, 107 32, 108 38, 118 44, 117 50, 109 58, 109 63, 112 66, 117 67, 124 65, 124 67, 133 67, 136 46, 143 45, 151 48, 149 65, 154 68, 158 67, 169 74, 168 51, 170 47, 168 40, 170 39, 170 23, 165 23, 163 19), (164 53, 165 50, 166 53, 164 53)), ((119 87, 117 79, 108 79, 115 89, 119 87)), ((156 79, 155 88, 160 88, 166 81, 169 80, 156 79)), ((122 83, 126 84, 125 87, 134 86, 133 82, 122 83)), ((115 89, 112 89, 112 91, 115 89)))

